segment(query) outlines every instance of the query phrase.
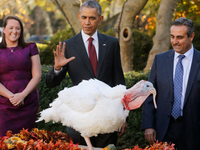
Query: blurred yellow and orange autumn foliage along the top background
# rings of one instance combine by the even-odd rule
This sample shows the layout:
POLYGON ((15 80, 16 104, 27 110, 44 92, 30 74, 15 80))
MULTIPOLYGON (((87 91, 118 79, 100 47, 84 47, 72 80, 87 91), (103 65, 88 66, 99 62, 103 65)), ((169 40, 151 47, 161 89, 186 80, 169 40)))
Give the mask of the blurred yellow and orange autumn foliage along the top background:
MULTIPOLYGON (((119 15, 126 0, 99 0, 102 6, 104 21, 119 15)), ((147 32, 151 37, 155 32, 156 15, 161 0, 149 0, 144 9, 136 16, 134 29, 147 32)), ((200 0, 180 0, 175 12, 175 18, 187 17, 195 22, 200 21, 200 0)), ((69 29, 70 25, 62 12, 51 0, 1 0, 0 1, 0 27, 6 15, 17 15, 25 27, 25 37, 31 35, 54 34, 58 30, 69 29)), ((114 20, 116 21, 116 20, 114 20)), ((113 23, 111 24, 113 25, 113 23)), ((104 32, 108 28, 101 26, 104 32)), ((110 26, 110 28, 112 28, 110 26)))

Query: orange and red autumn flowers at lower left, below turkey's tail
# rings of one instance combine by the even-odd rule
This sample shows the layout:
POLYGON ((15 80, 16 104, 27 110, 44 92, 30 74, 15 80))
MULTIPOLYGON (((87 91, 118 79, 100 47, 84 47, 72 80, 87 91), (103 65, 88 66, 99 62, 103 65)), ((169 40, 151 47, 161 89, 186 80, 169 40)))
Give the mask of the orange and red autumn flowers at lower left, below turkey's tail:
POLYGON ((21 130, 18 134, 7 131, 0 137, 0 150, 83 150, 72 139, 60 131, 47 132, 33 128, 31 131, 21 130))

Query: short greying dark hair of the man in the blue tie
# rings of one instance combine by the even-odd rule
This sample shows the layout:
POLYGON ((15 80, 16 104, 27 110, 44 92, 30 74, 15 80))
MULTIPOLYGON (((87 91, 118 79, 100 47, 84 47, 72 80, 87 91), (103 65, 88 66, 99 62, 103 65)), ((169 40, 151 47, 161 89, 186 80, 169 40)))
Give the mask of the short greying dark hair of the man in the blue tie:
POLYGON ((194 32, 194 23, 192 20, 184 18, 184 17, 180 17, 178 19, 176 19, 175 21, 172 22, 171 26, 181 26, 181 25, 185 25, 188 28, 187 31, 187 35, 188 37, 191 36, 191 34, 194 32))

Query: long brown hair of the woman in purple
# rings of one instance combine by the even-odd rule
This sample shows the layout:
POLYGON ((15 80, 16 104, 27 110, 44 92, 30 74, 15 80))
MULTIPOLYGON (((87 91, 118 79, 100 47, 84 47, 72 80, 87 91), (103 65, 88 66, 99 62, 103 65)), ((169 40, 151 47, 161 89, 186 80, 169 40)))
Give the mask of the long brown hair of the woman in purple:
MULTIPOLYGON (((7 26, 7 23, 8 23, 9 19, 17 20, 19 22, 19 24, 20 24, 21 34, 20 34, 20 37, 18 39, 18 45, 21 46, 22 48, 28 46, 29 43, 26 43, 25 40, 24 40, 24 28, 23 28, 22 21, 19 19, 19 17, 14 16, 14 15, 6 16, 4 21, 3 21, 3 27, 5 28, 7 26)), ((2 41, 0 43, 0 48, 6 48, 6 47, 7 47, 7 44, 6 44, 5 33, 3 33, 2 41)))

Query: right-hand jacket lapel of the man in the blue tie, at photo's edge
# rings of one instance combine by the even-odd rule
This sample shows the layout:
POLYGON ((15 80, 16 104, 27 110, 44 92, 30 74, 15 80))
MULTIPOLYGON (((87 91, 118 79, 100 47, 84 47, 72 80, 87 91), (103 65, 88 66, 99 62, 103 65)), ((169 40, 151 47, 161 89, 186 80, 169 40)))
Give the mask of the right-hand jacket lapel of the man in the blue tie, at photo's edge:
POLYGON ((197 50, 194 49, 193 60, 192 60, 192 65, 191 65, 191 69, 190 69, 190 75, 189 75, 189 79, 188 79, 184 105, 185 105, 186 101, 188 100, 188 96, 191 91, 192 85, 194 83, 196 74, 199 70, 199 67, 200 67, 200 52, 198 52, 197 50))

